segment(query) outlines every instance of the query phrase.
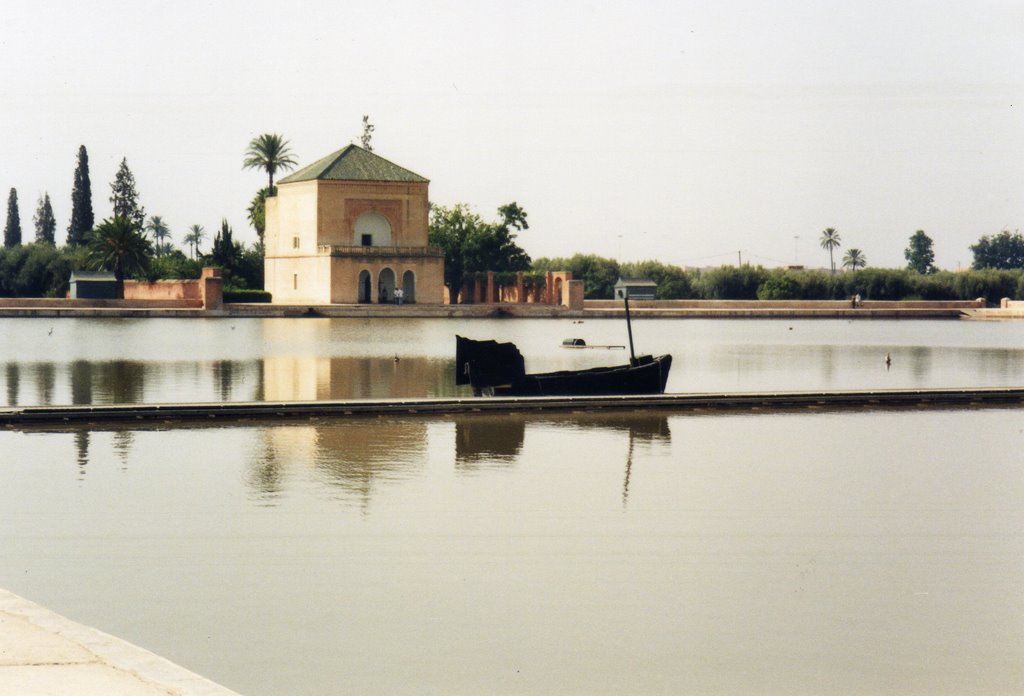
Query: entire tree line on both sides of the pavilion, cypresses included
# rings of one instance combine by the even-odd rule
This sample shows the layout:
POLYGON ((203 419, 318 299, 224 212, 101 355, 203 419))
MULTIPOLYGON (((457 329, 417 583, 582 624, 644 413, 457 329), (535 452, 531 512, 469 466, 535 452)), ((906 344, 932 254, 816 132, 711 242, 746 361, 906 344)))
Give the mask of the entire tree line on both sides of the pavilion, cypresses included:
MULTIPOLYGON (((360 140, 367 149, 372 149, 373 130, 369 117, 364 117, 360 140)), ((224 219, 209 252, 204 252, 208 234, 202 225, 188 227, 182 237, 183 249, 179 249, 162 216, 146 218, 127 159, 121 161, 111 183, 113 216, 96 224, 88 153, 82 145, 63 247, 55 245, 56 221, 48 192, 40 195, 36 207, 34 241, 23 244, 17 192, 10 189, 0 248, 0 296, 61 297, 68 291, 71 271, 78 269, 114 271, 120 284, 127 277, 195 278, 209 264, 223 269, 228 291, 261 291, 265 200, 276 192, 274 175, 295 166, 295 156, 282 135, 265 133, 253 138, 243 167, 267 174, 267 186, 256 192, 248 209, 249 222, 259 242, 252 247, 234 242, 224 219)), ((653 279, 659 299, 848 299, 853 295, 869 300, 1024 299, 1024 237, 1008 230, 983 235, 972 245, 974 262, 966 272, 938 270, 932 238, 918 230, 904 251, 905 269, 868 268, 864 253, 850 248, 840 264, 850 272, 837 273, 836 251, 842 247, 842 238, 834 227, 826 228, 819 240, 821 248, 828 252, 828 271, 750 265, 695 270, 653 260, 621 263, 593 254, 532 260, 516 241, 518 232, 529 228, 526 211, 512 202, 501 206, 498 216, 495 221, 484 220, 461 203, 431 206, 429 244, 444 254, 444 285, 454 301, 458 301, 466 280, 485 271, 548 270, 571 271, 585 281, 589 299, 610 299, 620 277, 653 279)))

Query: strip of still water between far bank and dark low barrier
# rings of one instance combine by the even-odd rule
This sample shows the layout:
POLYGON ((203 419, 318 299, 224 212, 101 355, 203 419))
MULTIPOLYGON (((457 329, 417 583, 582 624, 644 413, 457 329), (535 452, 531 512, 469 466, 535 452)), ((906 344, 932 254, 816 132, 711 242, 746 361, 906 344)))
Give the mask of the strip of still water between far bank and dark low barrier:
MULTIPOLYGON (((628 354, 561 348, 565 338, 625 346, 624 322, 608 319, 0 318, 0 400, 469 395, 455 386, 457 333, 515 342, 528 372, 628 354)), ((638 353, 674 356, 670 392, 1024 384, 1024 322, 645 319, 634 334, 638 353)))

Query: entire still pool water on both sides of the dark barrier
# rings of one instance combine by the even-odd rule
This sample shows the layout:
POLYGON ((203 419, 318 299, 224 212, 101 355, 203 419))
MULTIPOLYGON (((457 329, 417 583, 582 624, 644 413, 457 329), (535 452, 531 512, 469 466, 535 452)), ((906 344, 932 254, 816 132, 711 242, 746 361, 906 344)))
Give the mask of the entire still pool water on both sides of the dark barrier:
MULTIPOLYGON (((562 338, 625 338, 0 332, 0 393, 23 404, 444 395, 457 332, 514 340, 534 369, 622 355, 562 338)), ((1024 383, 1020 323, 635 333, 676 356, 673 391, 1024 383)), ((1022 408, 2 431, 0 586, 247 694, 1024 693, 1022 449, 1022 408)))

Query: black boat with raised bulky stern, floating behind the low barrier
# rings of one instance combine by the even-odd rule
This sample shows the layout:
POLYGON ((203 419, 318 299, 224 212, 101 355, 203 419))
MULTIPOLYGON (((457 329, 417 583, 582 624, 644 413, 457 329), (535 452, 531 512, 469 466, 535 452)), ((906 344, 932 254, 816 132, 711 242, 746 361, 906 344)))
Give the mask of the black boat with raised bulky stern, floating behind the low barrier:
POLYGON ((671 355, 641 355, 625 365, 527 375, 515 344, 456 337, 456 384, 471 385, 477 395, 662 394, 670 367, 671 355))

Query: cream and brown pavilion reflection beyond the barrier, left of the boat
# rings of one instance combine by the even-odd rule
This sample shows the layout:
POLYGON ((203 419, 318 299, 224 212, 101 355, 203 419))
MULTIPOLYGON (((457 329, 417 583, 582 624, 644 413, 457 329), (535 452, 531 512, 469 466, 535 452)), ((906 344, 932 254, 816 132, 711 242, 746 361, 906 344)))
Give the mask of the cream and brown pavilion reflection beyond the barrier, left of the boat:
POLYGON ((267 401, 413 398, 451 394, 454 360, 425 357, 268 357, 267 401))

